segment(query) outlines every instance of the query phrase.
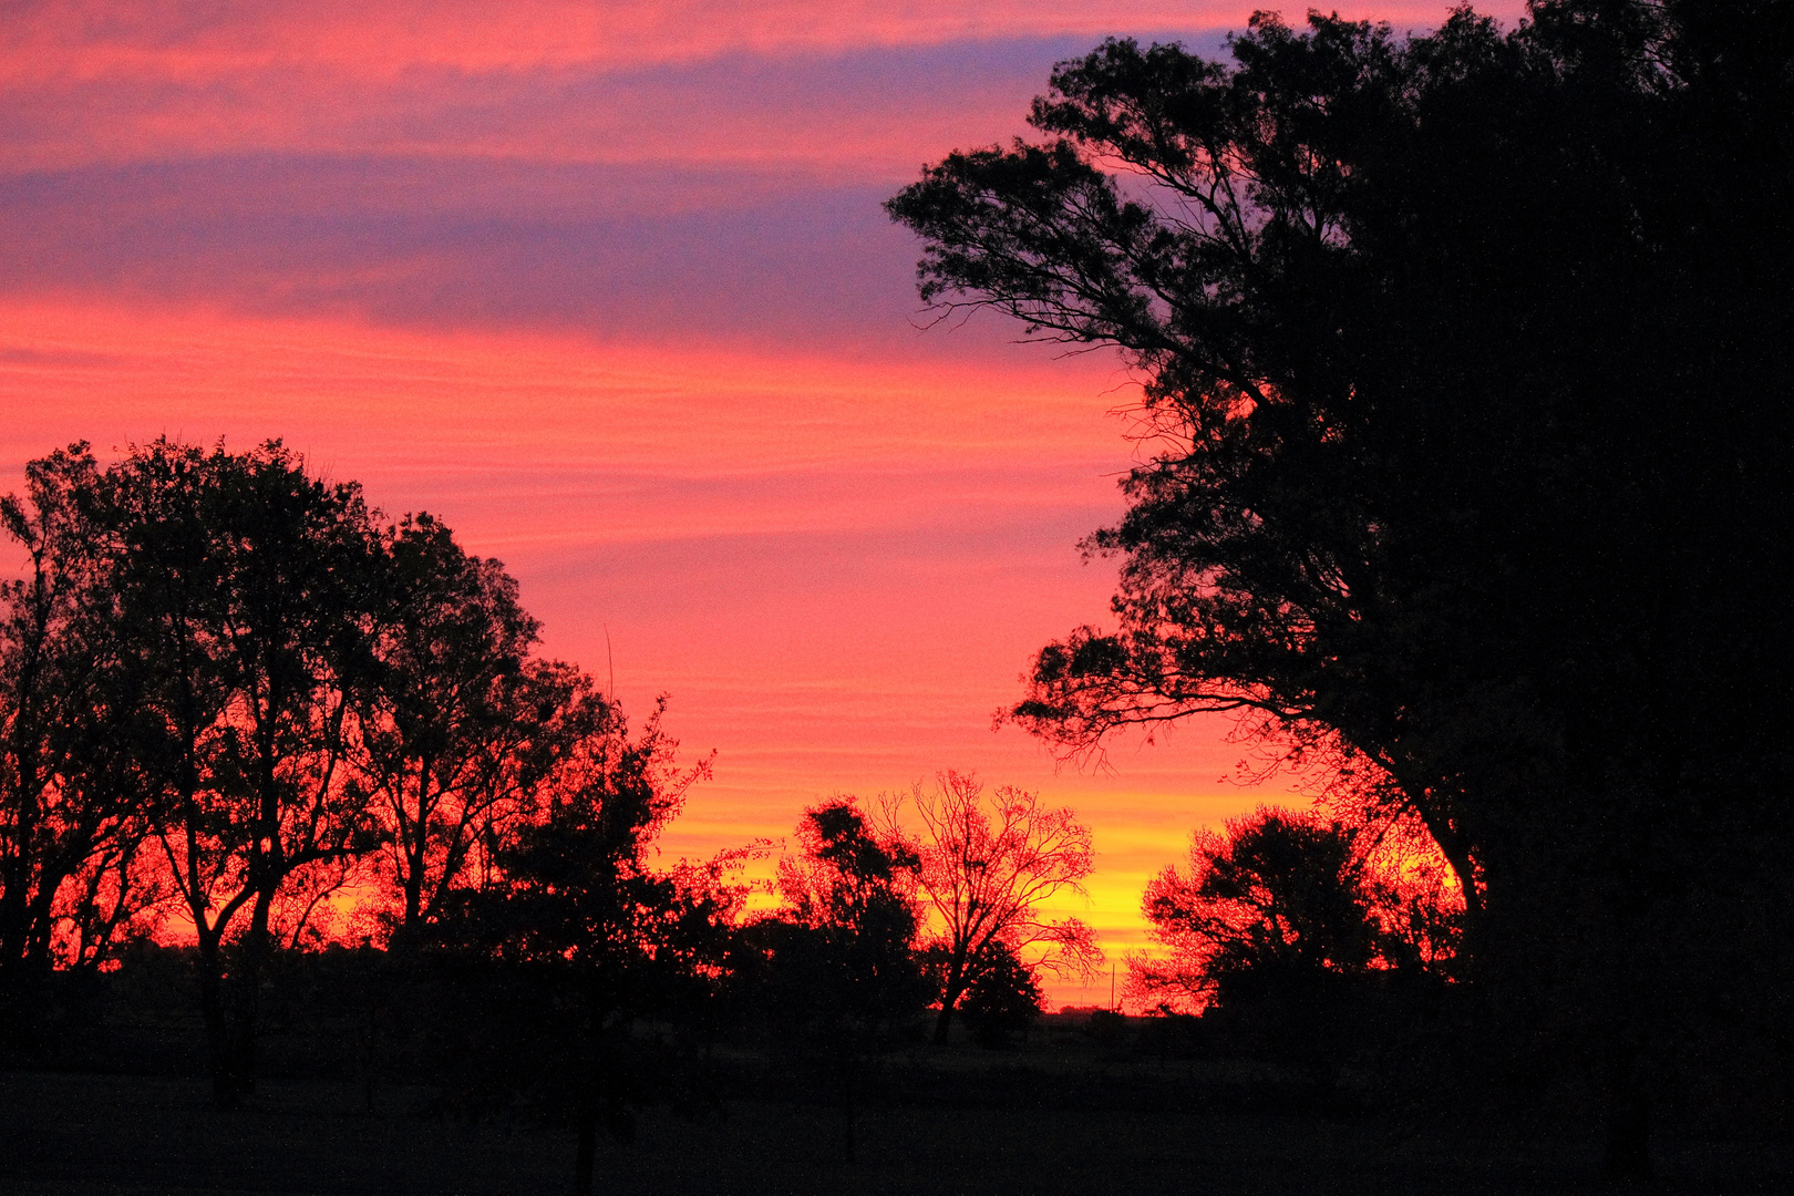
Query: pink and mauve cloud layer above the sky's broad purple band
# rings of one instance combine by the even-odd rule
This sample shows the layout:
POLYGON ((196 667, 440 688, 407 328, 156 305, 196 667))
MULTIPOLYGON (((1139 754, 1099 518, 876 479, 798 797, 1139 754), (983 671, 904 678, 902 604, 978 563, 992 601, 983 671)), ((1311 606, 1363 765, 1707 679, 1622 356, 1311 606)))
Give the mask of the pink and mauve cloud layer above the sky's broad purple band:
MULTIPOLYGON (((1446 9, 1367 11, 1428 23, 1446 9)), ((888 179, 1019 131, 1049 65, 1105 34, 1218 50, 1249 13, 1159 2, 29 5, 0 43, 0 149, 13 170, 348 152, 888 179)))

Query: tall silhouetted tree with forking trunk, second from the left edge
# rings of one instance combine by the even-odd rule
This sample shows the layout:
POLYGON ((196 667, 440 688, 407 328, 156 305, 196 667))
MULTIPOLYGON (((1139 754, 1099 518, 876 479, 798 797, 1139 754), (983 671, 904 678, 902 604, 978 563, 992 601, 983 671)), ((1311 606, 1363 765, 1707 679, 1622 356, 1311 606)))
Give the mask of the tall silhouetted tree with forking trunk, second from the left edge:
POLYGON ((346 784, 373 529, 353 484, 309 477, 278 443, 161 439, 109 472, 106 500, 120 624, 160 723, 156 836, 197 936, 213 1090, 231 1103, 253 1085, 276 902, 307 880, 316 897, 377 841, 346 784))

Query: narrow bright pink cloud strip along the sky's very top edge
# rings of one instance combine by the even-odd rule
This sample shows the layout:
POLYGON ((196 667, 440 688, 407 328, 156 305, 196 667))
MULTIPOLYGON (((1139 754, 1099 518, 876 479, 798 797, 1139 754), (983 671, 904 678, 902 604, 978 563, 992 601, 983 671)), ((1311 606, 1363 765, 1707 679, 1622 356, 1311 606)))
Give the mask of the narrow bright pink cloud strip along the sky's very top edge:
MULTIPOLYGON (((730 52, 779 56, 852 47, 940 45, 1057 34, 1238 29, 1252 4, 1234 0, 527 0, 493 7, 472 0, 237 5, 120 0, 14 5, 5 52, 34 79, 149 75, 215 81, 303 63, 343 74, 391 77, 414 66, 465 72, 544 66, 691 63, 730 52)), ((1344 16, 1432 25, 1450 5, 1415 0, 1338 5, 1344 16)), ((1487 5, 1518 16, 1512 0, 1487 5)), ((1292 20, 1301 9, 1292 7, 1292 20)))

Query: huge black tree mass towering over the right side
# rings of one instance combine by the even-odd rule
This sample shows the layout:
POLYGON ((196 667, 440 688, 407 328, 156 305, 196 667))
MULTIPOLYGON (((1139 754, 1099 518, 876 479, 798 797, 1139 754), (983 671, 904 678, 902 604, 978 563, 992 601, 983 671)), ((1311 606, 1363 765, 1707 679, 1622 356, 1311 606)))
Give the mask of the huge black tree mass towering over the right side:
POLYGON ((1695 977, 1785 956, 1794 14, 1261 14, 1231 50, 1109 41, 1046 140, 890 203, 924 298, 1145 382, 1154 455, 1089 542, 1119 626, 1014 715, 1337 737, 1462 877, 1489 1008, 1600 1042, 1636 1114, 1695 977))

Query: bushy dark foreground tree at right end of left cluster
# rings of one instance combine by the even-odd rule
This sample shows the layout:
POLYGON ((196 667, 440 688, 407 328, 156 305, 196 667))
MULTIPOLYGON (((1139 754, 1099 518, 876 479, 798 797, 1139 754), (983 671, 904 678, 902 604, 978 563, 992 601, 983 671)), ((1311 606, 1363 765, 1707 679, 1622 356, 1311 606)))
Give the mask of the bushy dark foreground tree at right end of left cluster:
POLYGON ((448 891, 431 925, 457 968, 443 1026, 463 1060, 457 1099, 572 1122, 579 1192, 599 1128, 630 1140, 639 1106, 689 1101, 692 1070, 667 1035, 716 1001, 736 914, 727 889, 648 861, 709 764, 675 767, 658 708, 633 739, 615 706, 601 714, 542 819, 499 846, 493 884, 448 891))

